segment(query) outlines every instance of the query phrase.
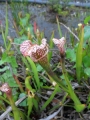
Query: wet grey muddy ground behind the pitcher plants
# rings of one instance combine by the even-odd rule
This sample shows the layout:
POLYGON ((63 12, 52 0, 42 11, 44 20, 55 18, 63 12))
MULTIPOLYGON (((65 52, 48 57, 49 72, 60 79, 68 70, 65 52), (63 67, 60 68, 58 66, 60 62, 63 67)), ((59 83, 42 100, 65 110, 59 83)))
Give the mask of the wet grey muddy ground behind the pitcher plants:
MULTIPOLYGON (((0 21, 5 27, 5 3, 0 3, 0 21)), ((40 31, 44 31, 45 37, 49 40, 52 34, 52 31, 55 32, 55 37, 59 38, 58 27, 56 23, 57 13, 54 13, 50 10, 50 6, 47 5, 39 5, 39 4, 28 4, 28 13, 32 15, 30 22, 33 24, 37 23, 40 31)), ((59 21, 64 23, 67 27, 76 28, 78 23, 83 23, 85 16, 89 14, 89 9, 79 8, 70 6, 66 7, 66 10, 69 12, 68 15, 62 16, 58 15, 59 21)), ((13 27, 13 17, 12 17, 12 9, 10 4, 8 4, 8 21, 9 21, 9 33, 8 35, 15 38, 18 37, 16 31, 13 27)), ((61 25, 61 30, 63 36, 66 36, 67 41, 69 41, 69 35, 66 28, 61 25)), ((2 36, 0 34, 0 44, 3 43, 2 36)))

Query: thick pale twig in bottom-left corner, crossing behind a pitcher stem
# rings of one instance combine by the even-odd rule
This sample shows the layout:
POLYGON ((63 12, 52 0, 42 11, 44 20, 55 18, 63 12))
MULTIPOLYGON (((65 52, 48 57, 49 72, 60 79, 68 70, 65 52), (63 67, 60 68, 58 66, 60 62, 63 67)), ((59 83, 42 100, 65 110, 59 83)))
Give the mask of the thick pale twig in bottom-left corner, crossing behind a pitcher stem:
MULTIPOLYGON (((18 101, 15 102, 15 105, 18 106, 27 96, 20 98, 18 101)), ((4 120, 7 114, 12 111, 12 107, 8 107, 7 110, 0 116, 0 120, 4 120)))

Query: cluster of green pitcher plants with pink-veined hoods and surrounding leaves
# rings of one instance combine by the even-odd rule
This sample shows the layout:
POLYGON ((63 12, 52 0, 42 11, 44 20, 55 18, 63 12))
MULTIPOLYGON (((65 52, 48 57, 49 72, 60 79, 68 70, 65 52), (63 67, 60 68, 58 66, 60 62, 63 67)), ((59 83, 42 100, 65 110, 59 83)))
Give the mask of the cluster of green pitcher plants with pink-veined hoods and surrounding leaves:
MULTIPOLYGON (((72 81, 83 86, 89 86, 90 77, 90 36, 88 30, 89 25, 84 26, 78 24, 77 38, 75 36, 71 40, 68 48, 67 38, 62 35, 58 18, 56 18, 60 38, 54 38, 54 32, 50 40, 44 38, 44 33, 40 32, 36 22, 32 26, 29 23, 30 15, 26 14, 22 17, 19 14, 19 29, 17 33, 19 38, 14 40, 8 37, 8 15, 6 9, 6 28, 3 30, 1 24, 2 36, 4 40, 4 49, 2 50, 0 65, 1 86, 0 86, 0 109, 4 112, 5 106, 10 105, 12 112, 10 116, 14 120, 30 120, 34 113, 40 115, 43 110, 54 99, 58 92, 65 92, 62 99, 63 106, 67 98, 70 98, 72 106, 76 112, 80 113, 84 109, 89 109, 90 96, 88 92, 88 100, 82 103, 72 86, 72 81), (74 40, 77 40, 74 43, 74 40), (56 66, 51 62, 54 51, 59 52, 59 62, 56 66), (73 72, 68 72, 66 61, 69 60, 73 72), (56 73, 57 66, 60 67, 61 73, 56 73), (54 70, 54 69, 55 70, 54 70), (18 71, 20 69, 20 73, 18 71), (74 74, 73 74, 74 73, 74 74), (41 76, 42 75, 42 76, 41 76), (72 78, 72 80, 70 79, 72 78), (49 81, 49 82, 48 82, 49 81), (42 106, 39 106, 42 94, 45 89, 52 89, 51 96, 42 106), (24 101, 16 106, 16 101, 22 97, 24 101), (6 100, 7 98, 7 100, 6 100)), ((15 22, 15 21, 14 21, 15 22)), ((72 33, 70 33, 72 35, 72 33)), ((58 55, 56 54, 55 57, 58 55)), ((70 68, 69 68, 70 69, 70 68)), ((82 88, 79 88, 81 91, 82 88)), ((2 113, 3 113, 2 112, 2 113)), ((8 113, 9 114, 9 113, 8 113)))

